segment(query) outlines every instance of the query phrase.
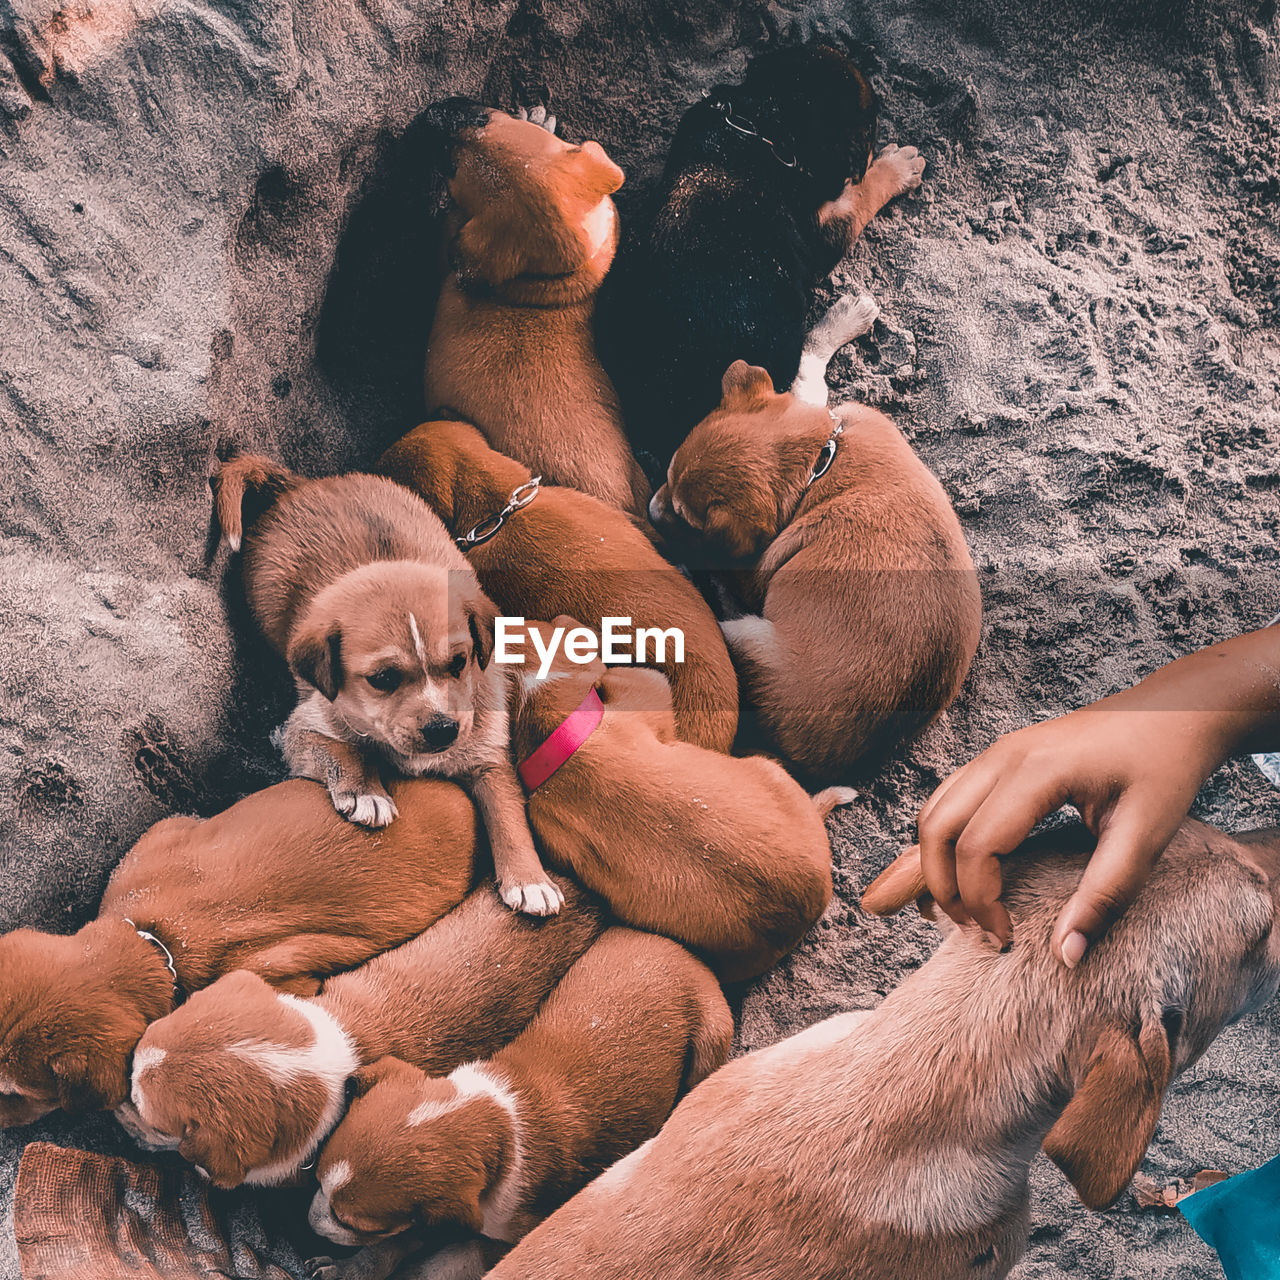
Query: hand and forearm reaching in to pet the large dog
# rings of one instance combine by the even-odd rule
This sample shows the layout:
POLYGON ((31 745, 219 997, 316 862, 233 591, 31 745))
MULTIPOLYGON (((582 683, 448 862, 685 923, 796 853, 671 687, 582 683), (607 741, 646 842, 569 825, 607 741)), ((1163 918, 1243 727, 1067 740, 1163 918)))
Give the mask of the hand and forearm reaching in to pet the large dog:
POLYGON ((1053 929, 1079 964, 1133 900, 1204 780, 1242 750, 1280 742, 1280 627, 1161 667, 1059 719, 1007 733, 951 774, 920 810, 920 863, 954 920, 1011 937, 1001 854, 1075 805, 1097 836, 1080 887, 1053 929))

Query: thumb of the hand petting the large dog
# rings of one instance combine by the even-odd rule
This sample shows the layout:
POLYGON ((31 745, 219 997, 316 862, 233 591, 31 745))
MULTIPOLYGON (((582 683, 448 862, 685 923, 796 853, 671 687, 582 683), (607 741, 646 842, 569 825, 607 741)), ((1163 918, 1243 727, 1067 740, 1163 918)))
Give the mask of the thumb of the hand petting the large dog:
MULTIPOLYGON (((1124 914, 1178 829, 1152 823, 1158 801, 1128 792, 1106 820, 1097 849, 1053 927, 1053 954, 1074 969, 1084 952, 1124 914)), ((1179 815, 1180 817, 1180 815, 1179 815)))

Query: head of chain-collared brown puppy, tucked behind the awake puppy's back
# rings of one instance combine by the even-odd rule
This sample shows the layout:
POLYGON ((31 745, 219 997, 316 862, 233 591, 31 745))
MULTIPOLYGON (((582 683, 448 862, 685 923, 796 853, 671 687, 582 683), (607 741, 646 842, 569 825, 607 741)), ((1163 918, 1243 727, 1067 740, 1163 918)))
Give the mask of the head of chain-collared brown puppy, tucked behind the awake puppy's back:
POLYGON ((379 460, 378 472, 420 494, 461 535, 476 520, 477 503, 498 511, 512 489, 529 480, 526 466, 498 453, 470 422, 422 422, 379 460))

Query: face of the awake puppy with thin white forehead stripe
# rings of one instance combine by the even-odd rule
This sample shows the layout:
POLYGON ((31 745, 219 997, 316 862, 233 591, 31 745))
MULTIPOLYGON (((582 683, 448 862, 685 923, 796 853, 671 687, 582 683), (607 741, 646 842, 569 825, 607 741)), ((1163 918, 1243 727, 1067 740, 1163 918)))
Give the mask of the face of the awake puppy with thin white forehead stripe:
POLYGON ((289 666, 353 736, 406 773, 434 772, 475 733, 495 617, 470 570, 365 564, 317 593, 289 637, 289 666))

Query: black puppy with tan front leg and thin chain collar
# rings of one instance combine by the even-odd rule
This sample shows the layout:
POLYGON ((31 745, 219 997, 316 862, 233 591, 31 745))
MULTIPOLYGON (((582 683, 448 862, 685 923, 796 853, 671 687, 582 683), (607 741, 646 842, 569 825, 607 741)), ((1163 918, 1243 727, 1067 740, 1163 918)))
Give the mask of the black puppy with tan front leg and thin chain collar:
MULTIPOLYGON (((623 253, 603 316, 637 447, 669 458, 735 360, 791 387, 814 285, 920 186, 915 147, 872 161, 877 109, 844 54, 808 45, 756 58, 741 84, 685 113, 652 225, 623 253)), ((872 305, 861 329, 874 319, 872 305)))

